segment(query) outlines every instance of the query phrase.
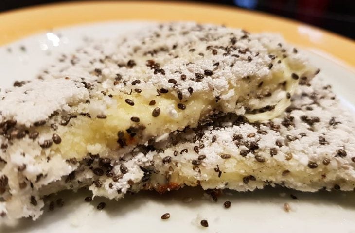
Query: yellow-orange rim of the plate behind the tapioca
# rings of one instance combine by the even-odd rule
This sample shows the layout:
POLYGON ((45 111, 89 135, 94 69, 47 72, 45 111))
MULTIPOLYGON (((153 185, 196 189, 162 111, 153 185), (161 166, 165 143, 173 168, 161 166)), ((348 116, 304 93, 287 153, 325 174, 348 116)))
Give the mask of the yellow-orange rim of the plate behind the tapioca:
POLYGON ((290 43, 322 50, 355 67, 355 43, 349 38, 265 13, 187 2, 67 2, 8 11, 0 14, 0 45, 53 28, 113 20, 197 21, 280 33, 290 43))

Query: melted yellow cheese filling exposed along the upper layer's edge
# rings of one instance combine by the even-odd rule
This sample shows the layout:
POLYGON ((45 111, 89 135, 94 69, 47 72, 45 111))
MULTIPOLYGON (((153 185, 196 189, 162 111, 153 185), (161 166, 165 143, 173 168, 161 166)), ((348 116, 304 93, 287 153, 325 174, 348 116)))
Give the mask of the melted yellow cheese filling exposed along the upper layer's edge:
MULTIPOLYGON (((78 116, 72 119, 70 128, 61 127, 58 130, 62 142, 53 145, 52 150, 59 150, 66 159, 81 159, 87 156, 90 146, 99 146, 99 148, 106 148, 105 150, 115 151, 122 147, 118 143, 120 131, 124 133, 122 138, 124 145, 144 143, 151 137, 182 130, 186 126, 195 127, 198 121, 205 118, 213 109, 233 112, 236 102, 241 102, 242 106, 248 106, 249 100, 255 99, 258 93, 263 93, 266 90, 272 93, 285 89, 285 92, 292 94, 298 81, 290 77, 291 71, 287 68, 284 72, 273 72, 270 78, 263 80, 263 85, 260 88, 258 88, 260 81, 256 81, 257 79, 241 80, 231 87, 235 93, 233 97, 219 101, 216 101, 212 94, 203 92, 193 93, 187 100, 179 100, 171 93, 160 94, 160 96, 155 93, 147 97, 147 95, 143 95, 143 92, 147 91, 144 89, 142 93, 132 92, 130 95, 122 92, 113 93, 114 104, 106 109, 104 113, 106 118, 78 116), (282 87, 280 83, 284 81, 287 83, 282 87), (125 101, 127 99, 132 100, 134 105, 128 104, 125 101), (155 104, 149 105, 152 100, 155 101, 155 104), (231 104, 234 102, 234 105, 228 109, 229 105, 223 105, 226 102, 231 104), (185 109, 179 108, 178 104, 183 104, 185 109), (153 111, 156 108, 160 109, 159 116, 153 116, 153 111), (139 122, 132 117, 139 118, 139 122), (131 127, 137 129, 133 134, 129 131, 131 127)), ((281 114, 288 105, 289 99, 284 95, 283 99, 278 100, 273 111, 246 114, 246 117, 250 121, 272 119, 281 114)))

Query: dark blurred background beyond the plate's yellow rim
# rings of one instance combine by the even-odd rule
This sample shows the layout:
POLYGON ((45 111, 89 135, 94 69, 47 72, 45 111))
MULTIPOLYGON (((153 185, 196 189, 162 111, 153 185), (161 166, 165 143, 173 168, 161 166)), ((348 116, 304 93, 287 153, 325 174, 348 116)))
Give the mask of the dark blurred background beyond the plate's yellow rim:
MULTIPOLYGON (((0 0, 0 12, 63 0, 0 0)), ((66 0, 70 1, 70 0, 66 0)), ((355 38, 355 0, 195 0, 293 18, 355 38)))

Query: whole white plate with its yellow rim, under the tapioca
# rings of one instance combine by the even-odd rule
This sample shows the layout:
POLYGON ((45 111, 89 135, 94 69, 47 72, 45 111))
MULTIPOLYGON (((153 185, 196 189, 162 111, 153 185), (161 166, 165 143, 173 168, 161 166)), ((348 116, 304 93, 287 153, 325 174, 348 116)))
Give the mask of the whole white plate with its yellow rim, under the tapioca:
MULTIPOLYGON (((15 80, 28 80, 36 77, 36 74, 46 65, 55 61, 61 53, 73 51, 80 47, 83 38, 86 36, 94 38, 116 37, 120 34, 136 31, 144 28, 149 24, 144 21, 110 21, 110 22, 90 22, 94 21, 94 17, 89 17, 85 11, 92 13, 92 7, 97 8, 97 20, 117 19, 112 16, 114 10, 122 13, 122 6, 126 10, 124 19, 132 19, 138 17, 146 17, 150 20, 180 19, 180 20, 197 20, 203 22, 220 23, 223 19, 229 20, 234 14, 235 20, 250 19, 250 17, 275 20, 261 15, 247 14, 244 11, 232 11, 229 9, 199 6, 199 5, 183 5, 183 4, 138 4, 138 3, 90 3, 90 4, 68 4, 47 6, 44 8, 34 8, 21 10, 18 12, 0 15, 0 31, 6 29, 9 31, 1 31, 0 43, 0 87, 6 88, 12 85, 15 80), (131 4, 131 5, 130 5, 131 4), (128 7, 130 5, 130 8, 128 7), (111 8, 109 8, 111 6, 111 8), (154 12, 160 11, 159 16, 148 16, 145 10, 139 8, 146 6, 145 10, 153 9, 154 12), (174 8, 175 6, 175 8, 174 8), (132 8, 136 7, 136 8, 132 8), (61 17, 67 19, 54 19, 56 13, 61 9, 72 9, 71 11, 62 11, 61 17), (119 9, 120 8, 120 9, 119 9), (157 10, 157 9, 158 10, 157 10), (172 9, 179 10, 181 18, 177 18, 177 13, 172 9), (79 14, 79 9, 83 14, 79 14), (90 10, 91 9, 91 10, 90 10), (169 15, 169 11, 171 17, 169 15), (197 11, 200 9, 201 11, 197 11), (210 10, 210 20, 208 17, 199 18, 201 12, 210 10), (45 14, 44 11, 47 11, 45 14), (105 11, 102 11, 105 10, 105 11), (190 16, 196 10, 197 16, 190 16), (132 15, 127 12, 131 12, 132 15), (139 15, 134 12, 142 13, 139 15), (199 12, 199 13, 198 13, 199 12), (225 12, 225 15, 216 17, 217 12, 225 12), (32 14, 33 17, 30 17, 32 14), (41 15, 42 14, 42 15, 41 15), (41 22, 36 27, 32 27, 33 22, 37 22, 37 17, 49 17, 46 22, 41 22), (75 18, 76 15, 76 19, 75 18), (85 17, 86 16, 86 17, 85 17), (5 21, 9 18, 22 20, 27 17, 28 30, 13 34, 20 28, 19 23, 14 23, 10 28, 4 26, 5 21), (195 18, 194 18, 195 17, 195 18), (218 19, 218 20, 217 20, 218 19), (68 26, 73 23, 90 22, 78 26, 67 28, 56 28, 68 26), (60 22, 60 23, 59 23, 60 22), (55 27, 54 30, 49 30, 55 27), (25 37, 15 41, 19 36, 28 35, 44 31, 32 36, 25 37), (7 33, 9 32, 9 33, 7 33), (7 34, 7 39, 3 34, 7 34), (12 41, 12 42, 11 42, 12 41), (9 43, 11 42, 11 43, 9 43)), ((152 13, 149 13, 152 14, 152 13)), ((26 23, 27 23, 26 21, 26 23)), ((43 20, 42 20, 43 21, 43 20)), ((9 22, 9 21, 7 21, 9 22)), ((294 26, 295 23, 280 21, 280 24, 294 26)), ((232 22, 228 26, 243 26, 252 32, 257 32, 256 22, 232 22)), ((27 24, 26 24, 27 25, 27 24)), ((276 31, 274 26, 264 24, 263 31, 276 31)), ((307 26, 308 27, 308 26, 307 26)), ((354 47, 354 43, 346 39, 342 39, 336 35, 328 35, 323 31, 315 30, 321 33, 324 40, 330 40, 331 43, 343 42, 354 47), (328 37, 330 36, 330 37, 328 37), (345 42, 344 42, 345 41, 345 42)), ((261 31, 261 30, 260 30, 261 31)), ((353 64, 353 60, 346 60, 346 56, 340 53, 332 53, 331 50, 324 50, 320 42, 302 39, 302 33, 292 33, 292 30, 279 29, 280 33, 286 35, 289 41, 301 45, 303 50, 309 55, 311 63, 320 67, 322 72, 326 74, 328 83, 334 86, 335 92, 349 107, 355 106, 355 72, 348 64, 353 64), (301 34, 301 35, 300 35, 301 34), (289 39, 294 37, 293 40, 289 39), (295 39, 296 38, 296 39, 295 39), (300 41, 297 41, 297 38, 300 41), (301 40, 302 39, 302 40, 301 40), (345 59, 346 62, 341 59, 345 59)), ((321 41, 322 39, 320 39, 321 41)), ((342 48, 341 43, 338 48, 342 48)), ((352 47, 349 47, 350 51, 352 47)), ((354 53, 353 53, 354 54, 354 53)), ((209 197, 205 196, 199 188, 183 188, 173 191, 165 195, 158 195, 154 192, 142 192, 140 194, 126 197, 124 200, 113 201, 103 198, 97 198, 93 202, 87 203, 84 198, 89 195, 86 190, 78 193, 70 191, 61 192, 57 195, 49 196, 45 201, 49 203, 52 200, 63 198, 65 204, 63 207, 56 207, 53 211, 45 213, 37 221, 23 219, 13 222, 3 222, 0 225, 0 232, 12 233, 61 233, 61 232, 85 232, 96 233, 114 231, 114 232, 194 232, 194 233, 251 233, 251 232, 273 232, 273 233, 293 233, 293 232, 346 232, 355 233, 355 192, 317 192, 302 193, 283 188, 266 188, 255 192, 237 193, 233 191, 225 191, 218 202, 213 202, 209 197), (297 199, 292 199, 290 195, 295 195, 297 199), (186 197, 191 198, 190 202, 186 202, 186 197), (223 203, 230 200, 231 208, 225 209, 223 203), (97 210, 96 206, 100 201, 106 202, 104 210, 97 210), (284 211, 284 203, 288 203, 291 207, 290 212, 284 211), (171 217, 167 220, 161 220, 160 216, 164 213, 170 213, 171 217), (207 219, 209 227, 200 226, 199 222, 207 219)), ((46 212, 48 205, 46 206, 46 212)))

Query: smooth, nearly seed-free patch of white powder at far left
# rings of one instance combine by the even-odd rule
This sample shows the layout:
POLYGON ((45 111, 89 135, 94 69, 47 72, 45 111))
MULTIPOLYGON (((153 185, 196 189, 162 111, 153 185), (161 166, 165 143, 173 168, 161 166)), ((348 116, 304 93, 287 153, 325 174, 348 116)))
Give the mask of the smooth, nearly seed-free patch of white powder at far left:
POLYGON ((70 105, 89 98, 82 83, 66 79, 34 80, 0 95, 0 117, 16 120, 27 127, 46 120, 54 111, 69 111, 70 105))

